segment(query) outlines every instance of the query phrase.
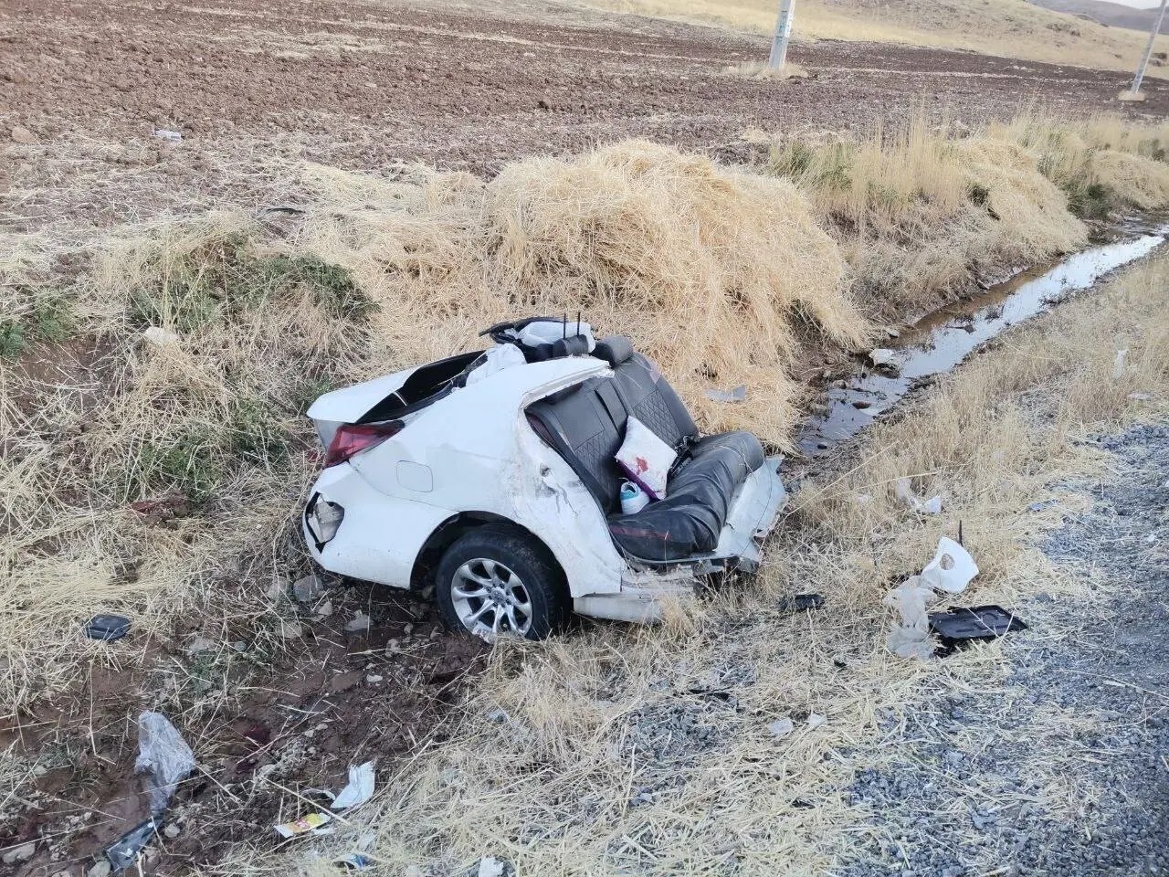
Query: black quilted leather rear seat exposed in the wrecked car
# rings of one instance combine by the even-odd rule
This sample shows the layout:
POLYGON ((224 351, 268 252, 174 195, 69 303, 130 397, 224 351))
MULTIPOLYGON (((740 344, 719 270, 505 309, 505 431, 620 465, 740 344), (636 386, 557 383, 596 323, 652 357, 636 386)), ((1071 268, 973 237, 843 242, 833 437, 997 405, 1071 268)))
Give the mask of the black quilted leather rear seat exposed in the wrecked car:
POLYGON ((624 551, 644 560, 683 560, 713 551, 739 485, 763 464, 763 448, 750 433, 698 437, 698 427, 657 366, 614 336, 594 355, 613 377, 590 378, 541 399, 527 409, 533 429, 568 462, 609 517, 609 531, 624 551), (632 415, 679 451, 666 497, 636 515, 622 515, 614 456, 632 415))

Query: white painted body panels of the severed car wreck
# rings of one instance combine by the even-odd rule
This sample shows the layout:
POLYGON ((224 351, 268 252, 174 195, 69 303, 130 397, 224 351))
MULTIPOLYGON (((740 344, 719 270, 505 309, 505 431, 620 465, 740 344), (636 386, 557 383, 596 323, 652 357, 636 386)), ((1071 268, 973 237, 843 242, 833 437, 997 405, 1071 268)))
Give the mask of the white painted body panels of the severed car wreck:
MULTIPOLYGON (((415 371, 323 395, 309 409, 321 441, 328 446, 338 426, 357 422, 415 371)), ((551 550, 577 613, 635 622, 659 619, 664 594, 692 593, 706 573, 758 566, 760 543, 786 499, 775 457, 736 491, 714 552, 652 564, 617 548, 596 499, 525 415, 532 402, 603 374, 613 372, 589 355, 503 368, 406 415, 400 433, 320 474, 302 520, 312 557, 343 575, 421 587, 420 558, 444 527, 506 520, 551 550), (319 500, 344 509, 324 543, 319 500)))

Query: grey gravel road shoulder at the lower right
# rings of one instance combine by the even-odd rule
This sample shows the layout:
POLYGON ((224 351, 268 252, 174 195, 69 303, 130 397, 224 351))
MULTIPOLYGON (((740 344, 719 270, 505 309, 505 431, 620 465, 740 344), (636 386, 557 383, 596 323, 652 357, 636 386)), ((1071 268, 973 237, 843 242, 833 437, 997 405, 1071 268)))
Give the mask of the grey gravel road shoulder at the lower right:
POLYGON ((939 696, 909 717, 898 762, 849 790, 874 830, 833 873, 1169 873, 1169 424, 1094 444, 1114 470, 1068 485, 1093 507, 1043 548, 1108 595, 1029 600, 1031 629, 1002 643, 1007 696, 939 696), (1045 635, 1060 629, 1077 633, 1045 635), (1071 817, 1045 795, 1051 764, 1071 817))

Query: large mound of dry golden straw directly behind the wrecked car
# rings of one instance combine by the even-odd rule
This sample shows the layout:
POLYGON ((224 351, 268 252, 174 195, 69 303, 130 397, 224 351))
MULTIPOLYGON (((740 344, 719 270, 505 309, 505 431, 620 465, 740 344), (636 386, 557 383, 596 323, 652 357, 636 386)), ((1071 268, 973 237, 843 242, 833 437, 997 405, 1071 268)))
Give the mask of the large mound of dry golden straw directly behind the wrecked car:
POLYGON ((389 184, 310 168, 306 182, 320 205, 290 247, 347 268, 381 305, 374 371, 458 348, 500 315, 583 310, 634 334, 710 428, 734 419, 783 444, 797 336, 869 336, 795 186, 669 147, 526 159, 486 184, 421 168, 389 184), (704 393, 740 384, 749 410, 704 393))

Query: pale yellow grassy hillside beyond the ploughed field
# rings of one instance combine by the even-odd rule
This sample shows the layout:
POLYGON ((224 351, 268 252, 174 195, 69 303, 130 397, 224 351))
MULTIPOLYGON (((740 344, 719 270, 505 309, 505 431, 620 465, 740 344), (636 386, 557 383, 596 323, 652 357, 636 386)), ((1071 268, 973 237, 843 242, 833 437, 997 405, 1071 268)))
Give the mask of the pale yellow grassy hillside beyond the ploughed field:
MULTIPOLYGON (((641 15, 724 25, 753 33, 775 28, 769 0, 589 0, 593 6, 641 15)), ((1051 12, 1025 0, 800 0, 796 40, 853 40, 975 50, 988 55, 1135 69, 1146 36, 1051 12)), ((1157 49, 1169 49, 1161 36, 1157 49)), ((1149 68, 1150 76, 1165 76, 1149 68)))

